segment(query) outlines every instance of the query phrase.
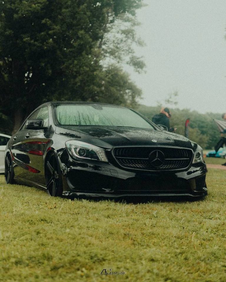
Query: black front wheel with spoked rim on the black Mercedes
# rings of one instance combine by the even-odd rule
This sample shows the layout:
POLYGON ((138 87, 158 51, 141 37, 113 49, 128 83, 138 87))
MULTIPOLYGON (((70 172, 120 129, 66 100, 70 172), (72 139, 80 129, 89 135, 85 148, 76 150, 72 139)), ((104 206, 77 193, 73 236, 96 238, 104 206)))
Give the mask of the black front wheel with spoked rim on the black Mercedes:
POLYGON ((52 197, 62 196, 62 175, 57 156, 54 152, 49 153, 47 156, 45 162, 45 178, 47 193, 52 197))

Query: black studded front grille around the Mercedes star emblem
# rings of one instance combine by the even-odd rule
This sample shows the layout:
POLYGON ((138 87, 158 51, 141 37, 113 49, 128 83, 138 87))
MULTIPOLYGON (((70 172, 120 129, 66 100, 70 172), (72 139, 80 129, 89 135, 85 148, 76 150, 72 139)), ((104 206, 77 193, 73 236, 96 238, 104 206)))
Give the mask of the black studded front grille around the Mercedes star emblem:
POLYGON ((172 170, 185 169, 192 161, 193 151, 186 148, 174 147, 117 147, 112 154, 118 164, 130 169, 144 170, 172 170), (156 154, 154 151, 160 151, 164 154, 164 160, 156 167, 150 159, 150 154, 156 154))

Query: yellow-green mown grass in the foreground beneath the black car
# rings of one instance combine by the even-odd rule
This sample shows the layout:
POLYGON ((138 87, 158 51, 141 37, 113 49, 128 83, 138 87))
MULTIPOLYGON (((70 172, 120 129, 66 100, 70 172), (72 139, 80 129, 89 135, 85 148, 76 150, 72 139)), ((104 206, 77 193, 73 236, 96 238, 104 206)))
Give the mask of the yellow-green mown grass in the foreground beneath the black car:
POLYGON ((204 200, 127 204, 51 198, 0 175, 0 281, 225 282, 225 183, 210 169, 204 200))

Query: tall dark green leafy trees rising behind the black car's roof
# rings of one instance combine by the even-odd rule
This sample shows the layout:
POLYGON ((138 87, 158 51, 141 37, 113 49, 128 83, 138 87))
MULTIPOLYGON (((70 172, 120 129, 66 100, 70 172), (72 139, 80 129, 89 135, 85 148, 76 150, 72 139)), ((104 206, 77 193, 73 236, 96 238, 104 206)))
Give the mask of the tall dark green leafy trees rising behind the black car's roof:
POLYGON ((125 47, 127 40, 141 43, 132 29, 141 3, 142 0, 1 2, 0 112, 12 120, 13 132, 31 110, 48 100, 109 102, 110 97, 112 103, 136 103, 140 90, 122 68, 112 66, 111 60, 117 57, 117 62, 125 63, 127 53, 127 63, 138 71, 144 67, 132 47, 125 47), (117 21, 127 26, 119 29, 120 39, 113 32, 117 21), (114 44, 109 43, 109 38, 114 44), (124 88, 119 95, 121 79, 124 88))

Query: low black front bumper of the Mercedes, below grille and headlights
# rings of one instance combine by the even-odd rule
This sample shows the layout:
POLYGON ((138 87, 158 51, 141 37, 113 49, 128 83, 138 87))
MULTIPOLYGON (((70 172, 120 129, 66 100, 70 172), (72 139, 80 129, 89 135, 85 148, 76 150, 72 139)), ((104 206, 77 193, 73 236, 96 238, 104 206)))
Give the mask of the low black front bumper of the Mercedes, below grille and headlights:
POLYGON ((165 197, 207 195, 205 163, 186 171, 132 171, 103 162, 64 164, 64 195, 78 197, 165 197))

